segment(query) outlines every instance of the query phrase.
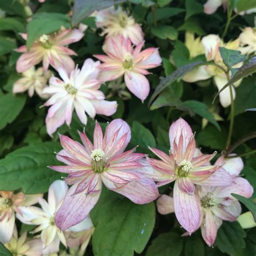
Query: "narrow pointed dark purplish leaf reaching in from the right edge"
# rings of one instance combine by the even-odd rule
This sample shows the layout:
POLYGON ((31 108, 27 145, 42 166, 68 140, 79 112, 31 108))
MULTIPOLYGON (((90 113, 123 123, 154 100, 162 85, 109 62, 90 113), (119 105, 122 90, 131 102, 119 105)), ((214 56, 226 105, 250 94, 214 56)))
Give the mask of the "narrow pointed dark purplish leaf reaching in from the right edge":
POLYGON ((233 84, 244 77, 252 75, 254 72, 256 72, 256 57, 249 59, 247 63, 242 65, 241 68, 237 70, 235 75, 221 88, 221 90, 219 90, 217 95, 215 95, 214 100, 228 85, 233 84))

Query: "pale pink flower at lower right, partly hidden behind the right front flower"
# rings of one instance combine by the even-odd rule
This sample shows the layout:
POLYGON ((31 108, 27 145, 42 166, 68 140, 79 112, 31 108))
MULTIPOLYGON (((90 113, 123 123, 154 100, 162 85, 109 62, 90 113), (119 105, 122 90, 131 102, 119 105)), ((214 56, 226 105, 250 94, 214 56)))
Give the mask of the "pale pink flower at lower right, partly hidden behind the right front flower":
MULTIPOLYGON (((216 172, 225 172, 226 170, 231 174, 233 181, 228 186, 196 187, 195 195, 201 212, 198 228, 201 227, 201 234, 208 246, 213 245, 223 220, 235 221, 241 213, 239 201, 232 197, 231 193, 240 194, 246 198, 250 198, 253 194, 250 183, 246 179, 238 177, 244 166, 241 158, 224 159, 221 156, 215 162, 216 164, 222 165, 221 169, 216 172)), ((174 212, 173 198, 167 195, 161 196, 157 200, 157 207, 161 214, 174 212)), ((189 232, 186 232, 184 235, 188 234, 189 232)))

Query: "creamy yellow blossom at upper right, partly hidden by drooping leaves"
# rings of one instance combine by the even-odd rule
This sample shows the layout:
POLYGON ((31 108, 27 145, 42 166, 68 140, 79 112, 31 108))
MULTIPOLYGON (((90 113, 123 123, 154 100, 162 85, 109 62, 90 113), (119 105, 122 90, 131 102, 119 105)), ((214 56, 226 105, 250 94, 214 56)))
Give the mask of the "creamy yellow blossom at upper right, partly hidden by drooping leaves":
MULTIPOLYGON (((203 44, 205 48, 205 56, 207 60, 214 60, 214 62, 218 65, 220 65, 224 70, 226 70, 226 66, 223 62, 223 59, 220 56, 219 52, 219 46, 223 46, 227 49, 231 50, 238 50, 239 48, 239 39, 233 41, 224 43, 221 41, 220 37, 218 35, 207 35, 202 38, 201 43, 203 44)), ((240 63, 235 65, 235 68, 240 67, 240 63)), ((197 82, 200 80, 206 80, 213 77, 215 85, 218 87, 218 90, 220 91, 224 85, 228 82, 226 74, 213 65, 207 65, 207 66, 200 66, 197 69, 192 70, 191 72, 188 72, 184 77, 183 80, 188 83, 197 82)), ((231 77, 231 74, 230 74, 231 77)), ((239 80, 237 83, 234 83, 234 86, 239 86, 241 83, 241 80, 239 80)), ((232 86, 232 93, 233 98, 235 99, 235 90, 232 86)), ((227 87, 225 90, 223 90, 219 94, 220 98, 220 104, 223 107, 227 107, 231 104, 231 98, 230 98, 230 89, 227 87)))

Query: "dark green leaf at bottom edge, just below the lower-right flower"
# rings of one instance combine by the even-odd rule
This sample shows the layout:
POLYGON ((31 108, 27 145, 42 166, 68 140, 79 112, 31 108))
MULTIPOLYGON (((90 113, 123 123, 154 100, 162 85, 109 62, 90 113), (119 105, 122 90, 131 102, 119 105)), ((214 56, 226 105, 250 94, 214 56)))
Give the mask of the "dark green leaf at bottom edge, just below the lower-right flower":
POLYGON ((224 221, 220 226, 214 246, 218 246, 221 252, 232 256, 242 256, 242 249, 245 248, 245 231, 240 224, 224 221))

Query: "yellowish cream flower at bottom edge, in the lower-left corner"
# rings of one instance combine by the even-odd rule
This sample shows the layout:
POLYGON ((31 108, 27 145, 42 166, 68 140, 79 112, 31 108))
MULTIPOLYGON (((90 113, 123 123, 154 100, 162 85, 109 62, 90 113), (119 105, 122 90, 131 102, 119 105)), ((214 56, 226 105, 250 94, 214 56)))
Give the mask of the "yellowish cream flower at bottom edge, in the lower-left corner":
POLYGON ((41 256, 43 254, 43 243, 41 239, 27 239, 27 232, 18 237, 17 228, 14 228, 14 234, 11 240, 4 246, 14 255, 32 255, 41 256))

